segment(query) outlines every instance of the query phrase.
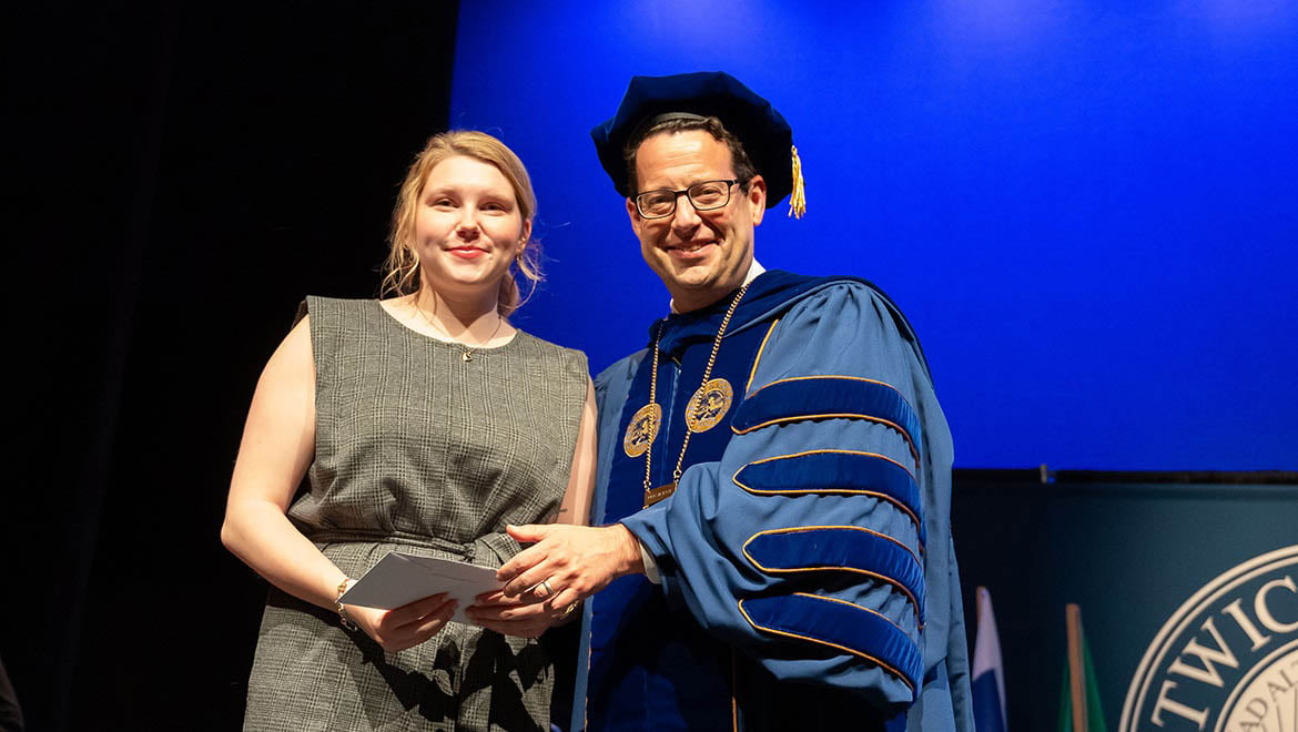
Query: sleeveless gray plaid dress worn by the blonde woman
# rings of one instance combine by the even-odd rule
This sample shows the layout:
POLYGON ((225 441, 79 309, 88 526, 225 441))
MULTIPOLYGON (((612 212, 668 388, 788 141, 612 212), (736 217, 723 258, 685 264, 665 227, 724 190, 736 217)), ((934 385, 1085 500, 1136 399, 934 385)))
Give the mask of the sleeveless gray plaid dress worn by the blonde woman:
MULTIPOLYGON (((585 357, 522 331, 461 358, 376 300, 308 297, 315 459, 293 524, 348 576, 388 552, 500 566, 506 523, 549 520, 567 487, 585 357)), ((541 646, 450 623, 384 653, 336 614, 271 588, 245 729, 549 728, 541 646)))

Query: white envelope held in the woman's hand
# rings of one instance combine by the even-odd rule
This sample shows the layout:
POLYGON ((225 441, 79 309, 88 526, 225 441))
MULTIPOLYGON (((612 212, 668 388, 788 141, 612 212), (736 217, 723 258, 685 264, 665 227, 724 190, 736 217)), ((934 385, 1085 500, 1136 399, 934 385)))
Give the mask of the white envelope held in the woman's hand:
POLYGON ((348 605, 392 610, 445 592, 458 602, 452 619, 471 623, 465 607, 472 605, 479 594, 501 587, 504 583, 496 580, 496 570, 491 567, 391 552, 339 600, 348 605))

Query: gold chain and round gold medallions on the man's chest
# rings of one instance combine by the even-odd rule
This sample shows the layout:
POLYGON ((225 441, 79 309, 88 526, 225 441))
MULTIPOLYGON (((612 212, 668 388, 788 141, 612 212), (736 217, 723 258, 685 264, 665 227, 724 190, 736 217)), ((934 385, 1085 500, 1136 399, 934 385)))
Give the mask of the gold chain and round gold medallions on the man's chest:
POLYGON ((726 327, 729 326, 731 315, 735 314, 735 308, 739 306, 739 301, 744 299, 745 292, 748 292, 746 284, 739 289, 739 295, 735 296, 735 300, 731 301, 729 308, 726 310, 726 317, 722 318, 722 324, 716 328, 716 337, 713 339, 713 352, 707 356, 707 366, 704 369, 702 383, 694 391, 694 395, 689 397, 689 404, 685 406, 685 440, 680 445, 676 469, 671 471, 671 483, 650 488, 653 443, 654 437, 658 436, 658 427, 662 424, 662 406, 658 405, 658 341, 662 339, 663 321, 658 322, 658 328, 653 336, 649 404, 641 406, 631 417, 631 423, 627 424, 627 433, 622 440, 622 449, 626 450, 627 457, 645 456, 644 507, 646 509, 676 492, 676 484, 680 483, 681 467, 685 465, 685 450, 689 449, 689 437, 694 432, 711 430, 722 421, 726 411, 729 410, 735 392, 726 379, 711 378, 713 365, 716 363, 716 352, 720 350, 722 336, 726 335, 726 327))

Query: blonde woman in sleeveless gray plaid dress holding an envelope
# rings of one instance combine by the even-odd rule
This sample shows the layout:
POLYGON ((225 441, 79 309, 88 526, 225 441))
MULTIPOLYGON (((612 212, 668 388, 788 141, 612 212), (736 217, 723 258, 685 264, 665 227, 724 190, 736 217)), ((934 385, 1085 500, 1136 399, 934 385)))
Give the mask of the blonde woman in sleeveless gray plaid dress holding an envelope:
POLYGON ((508 524, 585 520, 585 357, 508 321, 514 273, 539 276, 535 212, 502 143, 434 136, 393 213, 389 297, 309 297, 266 365, 221 530, 273 585, 245 729, 548 728, 533 639, 571 613, 550 588, 493 597, 476 624, 441 594, 337 602, 389 552, 498 567, 519 550, 508 524))

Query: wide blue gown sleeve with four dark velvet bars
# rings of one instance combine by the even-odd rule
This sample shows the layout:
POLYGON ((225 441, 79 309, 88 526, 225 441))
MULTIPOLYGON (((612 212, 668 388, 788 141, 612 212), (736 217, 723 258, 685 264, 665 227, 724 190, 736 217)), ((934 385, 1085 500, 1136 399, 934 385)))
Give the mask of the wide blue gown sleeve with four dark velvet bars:
POLYGON ((946 657, 954 572, 950 433, 902 323, 864 284, 803 297, 771 327, 722 459, 623 519, 709 632, 881 709, 946 657))

